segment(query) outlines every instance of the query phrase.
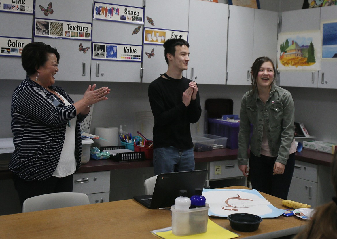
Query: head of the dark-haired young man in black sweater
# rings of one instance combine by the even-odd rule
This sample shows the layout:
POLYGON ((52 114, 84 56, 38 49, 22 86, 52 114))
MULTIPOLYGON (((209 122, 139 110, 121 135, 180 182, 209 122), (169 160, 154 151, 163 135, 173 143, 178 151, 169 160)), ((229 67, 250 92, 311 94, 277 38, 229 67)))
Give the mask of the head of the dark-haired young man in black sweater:
MULTIPOLYGON (((170 38, 163 44, 168 71, 182 72, 187 70, 189 62, 189 44, 182 38, 170 38)), ((170 74, 168 74, 170 75, 170 74)))

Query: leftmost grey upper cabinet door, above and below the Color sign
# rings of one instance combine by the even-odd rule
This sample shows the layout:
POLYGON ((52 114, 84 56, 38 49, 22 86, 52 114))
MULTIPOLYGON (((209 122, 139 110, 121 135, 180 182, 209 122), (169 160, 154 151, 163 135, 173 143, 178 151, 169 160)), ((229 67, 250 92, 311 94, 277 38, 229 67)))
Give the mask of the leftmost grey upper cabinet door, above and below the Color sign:
MULTIPOLYGON (((2 37, 32 38, 33 14, 0 11, 0 35, 2 37)), ((26 78, 21 56, 0 56, 0 79, 26 78)))

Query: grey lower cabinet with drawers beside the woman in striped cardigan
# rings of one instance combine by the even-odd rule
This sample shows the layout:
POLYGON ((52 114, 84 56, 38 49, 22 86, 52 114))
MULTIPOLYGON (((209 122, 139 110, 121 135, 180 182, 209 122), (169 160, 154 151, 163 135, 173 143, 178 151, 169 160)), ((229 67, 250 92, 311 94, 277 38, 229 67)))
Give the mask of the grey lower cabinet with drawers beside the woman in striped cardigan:
POLYGON ((75 193, 85 193, 90 204, 109 202, 110 171, 73 174, 75 193))

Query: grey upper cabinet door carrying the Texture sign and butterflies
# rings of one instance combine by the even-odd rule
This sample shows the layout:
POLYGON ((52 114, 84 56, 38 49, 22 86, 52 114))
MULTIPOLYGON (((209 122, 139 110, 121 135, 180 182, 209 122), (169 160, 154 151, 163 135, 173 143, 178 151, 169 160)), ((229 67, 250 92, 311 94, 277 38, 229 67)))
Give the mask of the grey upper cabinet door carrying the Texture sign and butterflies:
MULTIPOLYGON (((61 35, 44 37, 43 35, 34 33, 34 41, 42 41, 52 47, 56 47, 60 53, 59 71, 56 74, 56 80, 90 81, 91 40, 88 40, 88 38, 81 39, 79 37, 74 37, 73 39, 71 37, 62 37, 64 37, 63 34, 65 34, 64 30, 69 31, 69 34, 75 34, 76 32, 76 35, 79 34, 80 36, 81 31, 76 30, 79 29, 76 28, 76 26, 82 23, 85 23, 89 27, 89 33, 91 35, 92 2, 82 1, 79 4, 76 1, 58 0, 52 1, 52 5, 49 5, 50 2, 50 0, 36 0, 35 18, 42 19, 41 21, 46 19, 50 21, 50 25, 53 20, 62 22, 63 29, 61 28, 61 35), (53 12, 49 12, 45 15, 39 5, 44 9, 50 6, 53 12), (89 47, 89 49, 85 49, 87 47, 89 47), (80 51, 80 48, 83 49, 80 51)), ((51 29, 50 27, 50 31, 51 29)), ((34 29, 34 31, 36 31, 36 29, 34 29)))

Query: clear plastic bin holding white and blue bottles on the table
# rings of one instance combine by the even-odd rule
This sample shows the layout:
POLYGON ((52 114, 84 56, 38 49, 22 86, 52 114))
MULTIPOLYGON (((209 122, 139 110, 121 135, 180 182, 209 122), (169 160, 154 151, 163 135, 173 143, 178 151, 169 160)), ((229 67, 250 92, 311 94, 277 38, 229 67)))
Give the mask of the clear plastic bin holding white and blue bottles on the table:
POLYGON ((206 203, 205 207, 180 211, 175 209, 175 205, 173 205, 171 207, 172 233, 176 236, 188 236, 207 232, 209 208, 209 205, 206 203))

